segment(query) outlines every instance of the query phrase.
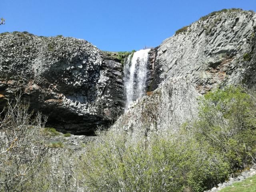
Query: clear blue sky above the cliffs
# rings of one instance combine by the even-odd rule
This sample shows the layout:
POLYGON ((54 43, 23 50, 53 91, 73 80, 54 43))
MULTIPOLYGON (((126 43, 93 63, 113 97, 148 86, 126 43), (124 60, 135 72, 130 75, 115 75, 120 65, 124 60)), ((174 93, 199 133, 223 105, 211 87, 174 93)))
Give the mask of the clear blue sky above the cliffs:
POLYGON ((156 47, 176 30, 223 8, 256 11, 256 0, 1 0, 0 32, 85 39, 101 50, 156 47))

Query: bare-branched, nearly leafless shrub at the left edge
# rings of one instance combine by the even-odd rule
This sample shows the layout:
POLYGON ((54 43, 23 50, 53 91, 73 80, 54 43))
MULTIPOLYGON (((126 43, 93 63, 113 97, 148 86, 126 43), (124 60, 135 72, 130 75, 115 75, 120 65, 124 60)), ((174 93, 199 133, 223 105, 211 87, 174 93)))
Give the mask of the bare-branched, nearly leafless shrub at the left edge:
POLYGON ((44 160, 46 118, 40 114, 32 118, 28 108, 17 96, 0 115, 0 191, 21 191, 17 189, 39 171, 44 160))

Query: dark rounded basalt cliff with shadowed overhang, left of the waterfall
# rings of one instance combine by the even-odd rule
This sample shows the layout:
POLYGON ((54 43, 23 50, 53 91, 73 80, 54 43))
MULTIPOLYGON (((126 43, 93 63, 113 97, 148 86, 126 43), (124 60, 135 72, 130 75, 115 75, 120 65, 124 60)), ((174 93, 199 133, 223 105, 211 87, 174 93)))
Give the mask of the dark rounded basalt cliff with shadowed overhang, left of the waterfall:
POLYGON ((0 34, 0 100, 23 93, 31 109, 48 115, 48 126, 92 134, 124 107, 122 65, 75 38, 0 34))

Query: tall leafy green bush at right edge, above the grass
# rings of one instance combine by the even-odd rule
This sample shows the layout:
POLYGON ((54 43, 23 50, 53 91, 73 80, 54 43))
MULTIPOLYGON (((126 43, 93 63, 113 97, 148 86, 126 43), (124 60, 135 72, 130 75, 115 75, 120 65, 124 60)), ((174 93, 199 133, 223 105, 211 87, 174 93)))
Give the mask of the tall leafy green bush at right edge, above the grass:
POLYGON ((222 152, 233 170, 246 168, 256 156, 256 109, 242 88, 217 89, 204 96, 194 124, 199 142, 222 152))

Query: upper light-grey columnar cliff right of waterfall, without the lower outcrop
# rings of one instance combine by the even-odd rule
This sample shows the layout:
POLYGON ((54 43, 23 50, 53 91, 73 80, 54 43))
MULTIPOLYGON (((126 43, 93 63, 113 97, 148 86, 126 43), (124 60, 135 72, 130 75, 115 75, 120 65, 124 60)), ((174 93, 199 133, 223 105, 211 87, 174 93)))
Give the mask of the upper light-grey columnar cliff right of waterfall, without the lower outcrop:
POLYGON ((226 10, 203 17, 150 51, 149 90, 184 76, 199 93, 217 86, 255 87, 256 13, 226 10))

